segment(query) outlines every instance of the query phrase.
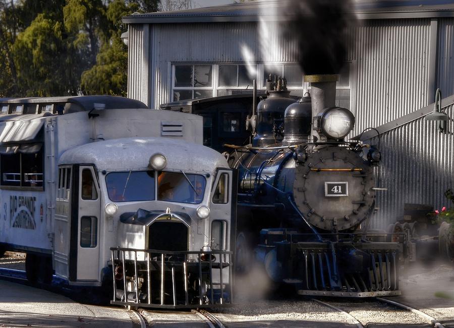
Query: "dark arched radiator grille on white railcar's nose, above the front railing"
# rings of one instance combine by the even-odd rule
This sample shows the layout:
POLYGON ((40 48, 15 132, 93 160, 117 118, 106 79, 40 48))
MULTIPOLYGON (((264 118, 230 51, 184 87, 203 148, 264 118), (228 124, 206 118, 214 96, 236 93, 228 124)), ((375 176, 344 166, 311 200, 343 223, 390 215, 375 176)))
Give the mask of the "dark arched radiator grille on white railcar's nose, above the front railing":
POLYGON ((148 248, 170 251, 188 250, 188 227, 181 222, 155 222, 149 227, 148 248))

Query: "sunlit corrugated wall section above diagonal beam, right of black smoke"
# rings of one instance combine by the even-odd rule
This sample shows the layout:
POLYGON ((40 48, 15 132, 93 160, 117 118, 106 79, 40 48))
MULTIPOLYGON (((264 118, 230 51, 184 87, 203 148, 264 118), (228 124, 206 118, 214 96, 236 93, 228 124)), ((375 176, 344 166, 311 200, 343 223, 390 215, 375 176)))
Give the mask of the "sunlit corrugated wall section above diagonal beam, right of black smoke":
POLYGON ((365 21, 355 33, 354 135, 428 104, 430 19, 365 21))

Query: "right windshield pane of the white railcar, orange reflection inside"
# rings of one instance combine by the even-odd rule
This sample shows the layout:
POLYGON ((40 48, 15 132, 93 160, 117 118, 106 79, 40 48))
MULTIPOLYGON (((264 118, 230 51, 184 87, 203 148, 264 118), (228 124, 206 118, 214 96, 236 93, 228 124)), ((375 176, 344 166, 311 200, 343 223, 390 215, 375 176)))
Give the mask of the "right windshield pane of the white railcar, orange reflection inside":
POLYGON ((203 175, 184 172, 159 172, 158 201, 200 204, 205 194, 203 175))

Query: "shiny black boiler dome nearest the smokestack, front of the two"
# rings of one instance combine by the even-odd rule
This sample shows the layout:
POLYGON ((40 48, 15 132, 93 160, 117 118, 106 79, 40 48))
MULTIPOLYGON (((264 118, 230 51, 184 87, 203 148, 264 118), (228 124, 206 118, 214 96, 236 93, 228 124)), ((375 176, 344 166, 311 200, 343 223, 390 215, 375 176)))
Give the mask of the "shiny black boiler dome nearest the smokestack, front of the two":
POLYGON ((284 138, 282 146, 307 142, 311 133, 311 97, 302 97, 287 107, 284 114, 284 138))

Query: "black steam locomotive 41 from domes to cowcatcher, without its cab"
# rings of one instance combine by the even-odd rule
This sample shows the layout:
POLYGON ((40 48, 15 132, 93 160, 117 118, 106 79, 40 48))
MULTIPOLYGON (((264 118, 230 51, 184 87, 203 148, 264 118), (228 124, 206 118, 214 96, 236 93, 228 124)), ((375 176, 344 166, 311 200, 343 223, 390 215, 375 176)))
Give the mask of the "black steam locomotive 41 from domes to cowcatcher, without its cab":
POLYGON ((298 101, 285 79, 268 81, 269 96, 249 119, 252 144, 232 146, 236 267, 246 271, 254 257, 301 295, 399 295, 399 244, 367 232, 380 152, 346 140, 355 117, 335 106, 336 80, 306 76, 311 95, 298 101))

